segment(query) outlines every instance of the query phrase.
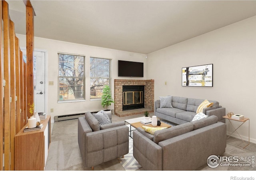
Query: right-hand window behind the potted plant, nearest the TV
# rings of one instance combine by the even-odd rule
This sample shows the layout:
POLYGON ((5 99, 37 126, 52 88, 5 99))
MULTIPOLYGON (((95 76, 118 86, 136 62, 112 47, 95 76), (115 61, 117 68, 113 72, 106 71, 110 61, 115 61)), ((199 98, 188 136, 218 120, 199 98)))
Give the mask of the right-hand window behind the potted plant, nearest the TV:
POLYGON ((102 97, 105 85, 110 86, 110 59, 90 58, 90 99, 102 97))

